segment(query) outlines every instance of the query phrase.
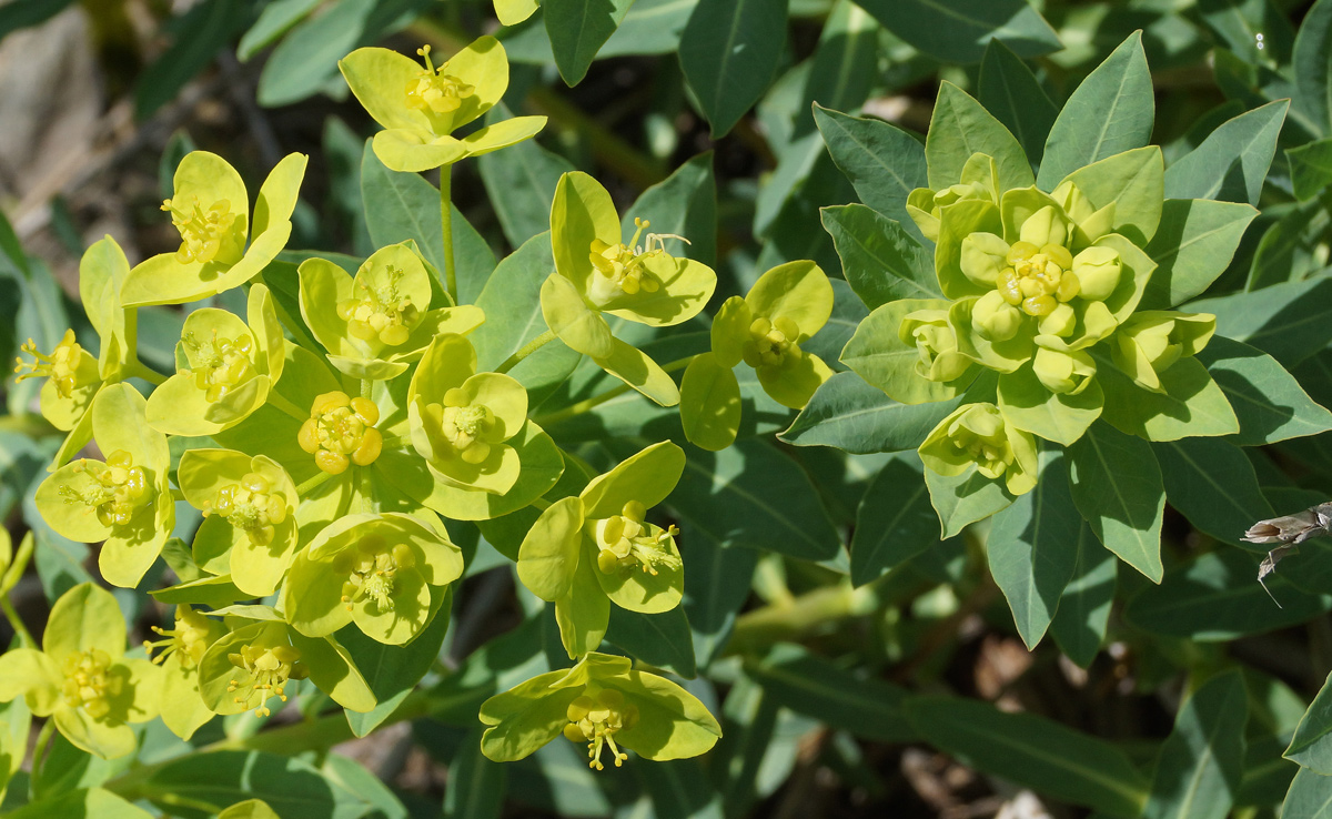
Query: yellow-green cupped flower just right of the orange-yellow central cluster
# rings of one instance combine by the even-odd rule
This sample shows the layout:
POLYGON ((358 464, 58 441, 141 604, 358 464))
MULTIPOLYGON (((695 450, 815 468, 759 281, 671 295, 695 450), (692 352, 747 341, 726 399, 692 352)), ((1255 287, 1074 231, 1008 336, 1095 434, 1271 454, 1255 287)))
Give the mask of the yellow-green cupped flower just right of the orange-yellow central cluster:
POLYGON ((462 336, 436 338, 408 388, 412 445, 432 473, 460 489, 503 494, 522 471, 507 443, 527 418, 527 390, 500 373, 478 373, 462 336))

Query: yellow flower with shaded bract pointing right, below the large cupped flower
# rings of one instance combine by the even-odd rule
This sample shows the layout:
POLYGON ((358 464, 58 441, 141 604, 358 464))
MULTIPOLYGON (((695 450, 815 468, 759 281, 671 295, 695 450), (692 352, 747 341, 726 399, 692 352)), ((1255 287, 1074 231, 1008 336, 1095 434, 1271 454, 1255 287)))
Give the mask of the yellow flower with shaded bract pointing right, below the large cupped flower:
POLYGON ((268 606, 230 606, 210 614, 224 615, 230 629, 198 661, 198 692, 214 714, 268 716, 269 702, 286 702, 294 692, 292 683, 302 679, 344 708, 365 712, 376 706, 370 686, 332 637, 305 637, 268 606))

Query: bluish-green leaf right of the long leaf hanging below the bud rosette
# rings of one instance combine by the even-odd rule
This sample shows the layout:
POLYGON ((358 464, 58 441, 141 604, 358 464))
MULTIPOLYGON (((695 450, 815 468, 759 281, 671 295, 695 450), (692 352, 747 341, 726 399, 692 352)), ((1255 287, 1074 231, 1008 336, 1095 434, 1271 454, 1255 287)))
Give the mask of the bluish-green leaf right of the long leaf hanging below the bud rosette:
POLYGON ((1091 666, 1106 641, 1118 575, 1119 561, 1083 521, 1078 530, 1078 567, 1064 586, 1059 610, 1050 623, 1055 643, 1083 669, 1091 666))

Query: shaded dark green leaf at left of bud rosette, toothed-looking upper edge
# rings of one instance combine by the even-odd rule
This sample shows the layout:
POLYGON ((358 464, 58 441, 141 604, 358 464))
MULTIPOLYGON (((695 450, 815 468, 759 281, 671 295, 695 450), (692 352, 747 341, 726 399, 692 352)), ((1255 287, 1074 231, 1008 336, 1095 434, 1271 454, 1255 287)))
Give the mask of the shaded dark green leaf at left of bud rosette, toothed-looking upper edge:
POLYGON ((898 298, 942 298, 934 258, 898 222, 864 205, 821 212, 842 274, 871 310, 898 298))

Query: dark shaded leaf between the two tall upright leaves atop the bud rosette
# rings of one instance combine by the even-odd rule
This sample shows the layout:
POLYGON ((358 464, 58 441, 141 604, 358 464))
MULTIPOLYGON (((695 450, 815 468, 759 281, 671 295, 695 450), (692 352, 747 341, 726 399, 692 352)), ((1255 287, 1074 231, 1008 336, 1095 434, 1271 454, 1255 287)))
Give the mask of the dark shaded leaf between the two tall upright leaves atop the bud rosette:
POLYGON ((1059 108, 1003 40, 991 40, 986 47, 978 93, 980 104, 1018 137, 1031 164, 1039 165, 1059 108))

